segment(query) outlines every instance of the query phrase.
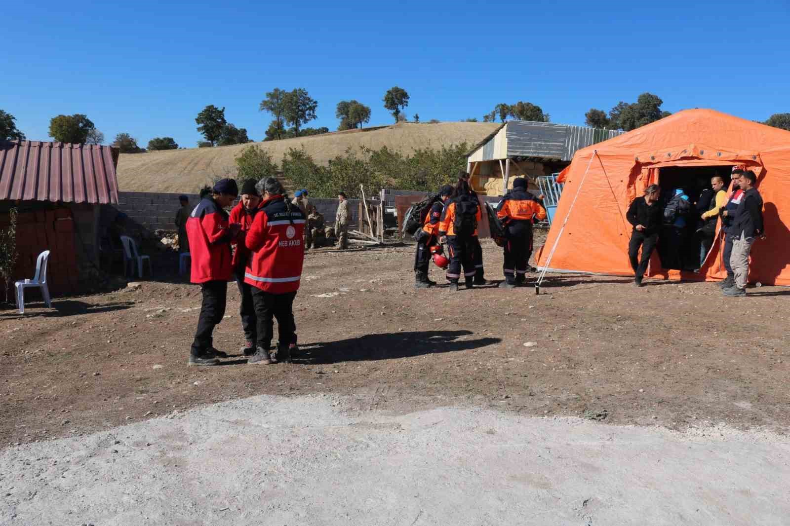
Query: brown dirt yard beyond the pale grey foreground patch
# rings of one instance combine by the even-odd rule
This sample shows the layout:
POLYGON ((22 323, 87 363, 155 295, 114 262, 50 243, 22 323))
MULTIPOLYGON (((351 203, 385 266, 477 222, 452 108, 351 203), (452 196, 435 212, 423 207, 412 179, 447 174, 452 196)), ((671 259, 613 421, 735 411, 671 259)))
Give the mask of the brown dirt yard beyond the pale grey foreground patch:
MULTIPOLYGON (((483 246, 489 279, 502 254, 483 246)), ((186 367, 197 286, 55 299, 0 311, 0 446, 88 434, 257 394, 344 396, 354 410, 453 404, 683 430, 785 434, 790 342, 784 287, 724 298, 717 284, 551 275, 533 287, 413 288, 413 249, 307 255, 295 301, 301 358, 246 365, 228 288, 224 366, 186 367), (529 344, 529 346, 525 346, 529 344)), ((432 277, 444 283, 432 267, 432 277)))

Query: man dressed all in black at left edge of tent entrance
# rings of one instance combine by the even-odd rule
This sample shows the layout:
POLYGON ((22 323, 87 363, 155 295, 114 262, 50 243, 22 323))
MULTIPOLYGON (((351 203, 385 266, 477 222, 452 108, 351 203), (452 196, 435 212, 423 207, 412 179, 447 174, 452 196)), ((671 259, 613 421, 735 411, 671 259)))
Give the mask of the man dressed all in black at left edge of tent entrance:
POLYGON ((634 225, 631 240, 628 243, 628 257, 631 261, 631 268, 634 269, 634 284, 637 287, 642 286, 641 280, 645 276, 650 254, 653 254, 653 249, 656 248, 656 242, 658 242, 658 232, 662 220, 662 211, 658 204, 659 193, 658 185, 648 186, 645 188, 645 196, 634 199, 626 213, 628 222, 634 225), (640 246, 641 257, 638 257, 640 246))

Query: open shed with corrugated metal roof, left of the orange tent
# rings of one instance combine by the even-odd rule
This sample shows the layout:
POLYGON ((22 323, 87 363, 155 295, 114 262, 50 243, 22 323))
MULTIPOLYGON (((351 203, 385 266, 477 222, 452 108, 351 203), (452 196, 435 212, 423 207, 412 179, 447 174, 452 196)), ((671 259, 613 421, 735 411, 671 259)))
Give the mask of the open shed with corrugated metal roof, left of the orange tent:
POLYGON ((621 133, 552 122, 508 121, 469 153, 467 171, 475 190, 503 195, 512 171, 534 182, 536 177, 566 167, 578 149, 621 133))

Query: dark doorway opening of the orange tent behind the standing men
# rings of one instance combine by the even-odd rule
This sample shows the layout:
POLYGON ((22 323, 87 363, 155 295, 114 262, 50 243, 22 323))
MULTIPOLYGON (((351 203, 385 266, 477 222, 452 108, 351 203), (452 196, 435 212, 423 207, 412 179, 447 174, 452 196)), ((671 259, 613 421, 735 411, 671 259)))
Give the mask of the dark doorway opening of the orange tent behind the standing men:
MULTIPOLYGON (((713 199, 710 179, 724 178, 724 188, 730 184, 728 166, 669 166, 658 171, 661 203, 664 207, 681 189, 688 197, 690 211, 672 224, 661 227, 656 251, 664 269, 698 271, 713 246, 713 232, 705 228, 702 213, 707 212, 713 199)), ((713 224, 715 229, 715 223, 713 224)))

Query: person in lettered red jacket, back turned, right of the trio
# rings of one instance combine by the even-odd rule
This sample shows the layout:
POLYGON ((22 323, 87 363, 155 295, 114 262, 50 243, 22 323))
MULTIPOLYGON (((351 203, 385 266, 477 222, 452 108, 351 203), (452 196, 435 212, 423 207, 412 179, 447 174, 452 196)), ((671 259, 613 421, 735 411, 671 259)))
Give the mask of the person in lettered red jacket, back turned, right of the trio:
POLYGON ((244 272, 244 282, 253 287, 252 299, 258 321, 255 354, 247 363, 267 365, 291 359, 290 345, 295 340, 293 302, 304 262, 303 233, 307 218, 292 205, 276 178, 258 182, 263 195, 261 208, 246 233, 245 245, 252 252, 244 272), (274 355, 269 348, 277 319, 280 343, 274 355))

